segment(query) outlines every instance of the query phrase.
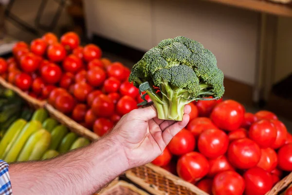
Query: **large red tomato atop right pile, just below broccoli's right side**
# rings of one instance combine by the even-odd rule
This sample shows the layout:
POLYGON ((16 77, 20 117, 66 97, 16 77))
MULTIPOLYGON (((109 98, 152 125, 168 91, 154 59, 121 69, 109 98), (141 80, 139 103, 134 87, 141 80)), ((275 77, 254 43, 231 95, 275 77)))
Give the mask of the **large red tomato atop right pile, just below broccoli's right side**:
POLYGON ((239 128, 244 118, 244 107, 234 101, 225 100, 215 106, 211 119, 219 129, 233 131, 239 128))

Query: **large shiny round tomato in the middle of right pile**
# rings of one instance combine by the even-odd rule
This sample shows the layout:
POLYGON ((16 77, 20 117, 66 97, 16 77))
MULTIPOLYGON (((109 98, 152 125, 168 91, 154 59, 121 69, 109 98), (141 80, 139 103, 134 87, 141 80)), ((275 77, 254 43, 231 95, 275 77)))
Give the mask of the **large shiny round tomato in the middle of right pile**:
POLYGON ((227 156, 230 163, 239 169, 249 169, 258 163, 260 148, 255 141, 243 138, 230 143, 227 156))

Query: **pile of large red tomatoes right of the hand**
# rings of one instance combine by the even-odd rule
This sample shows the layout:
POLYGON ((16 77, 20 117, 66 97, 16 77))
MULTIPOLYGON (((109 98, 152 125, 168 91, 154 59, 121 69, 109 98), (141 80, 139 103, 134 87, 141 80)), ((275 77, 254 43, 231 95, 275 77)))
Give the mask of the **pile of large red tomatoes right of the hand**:
POLYGON ((234 100, 190 103, 185 129, 152 161, 210 195, 264 195, 292 171, 292 135, 234 100))

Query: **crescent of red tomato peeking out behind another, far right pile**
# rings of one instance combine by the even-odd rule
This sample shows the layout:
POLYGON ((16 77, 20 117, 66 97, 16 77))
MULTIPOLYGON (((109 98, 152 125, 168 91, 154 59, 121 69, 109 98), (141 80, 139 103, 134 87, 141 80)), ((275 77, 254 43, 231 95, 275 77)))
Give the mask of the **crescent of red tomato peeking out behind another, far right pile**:
POLYGON ((271 122, 274 124, 274 127, 277 130, 277 136, 274 143, 271 145, 271 148, 277 149, 285 144, 288 132, 286 126, 281 121, 272 120, 271 122))

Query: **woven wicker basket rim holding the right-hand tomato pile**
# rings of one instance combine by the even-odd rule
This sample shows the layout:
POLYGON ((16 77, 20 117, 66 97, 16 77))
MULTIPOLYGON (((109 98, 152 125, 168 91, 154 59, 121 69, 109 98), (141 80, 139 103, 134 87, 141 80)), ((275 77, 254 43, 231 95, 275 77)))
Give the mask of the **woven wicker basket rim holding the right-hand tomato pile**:
MULTIPOLYGON (((195 185, 152 164, 133 168, 126 177, 153 195, 207 195, 195 185)), ((279 181, 266 195, 278 195, 292 183, 292 173, 279 181)))

